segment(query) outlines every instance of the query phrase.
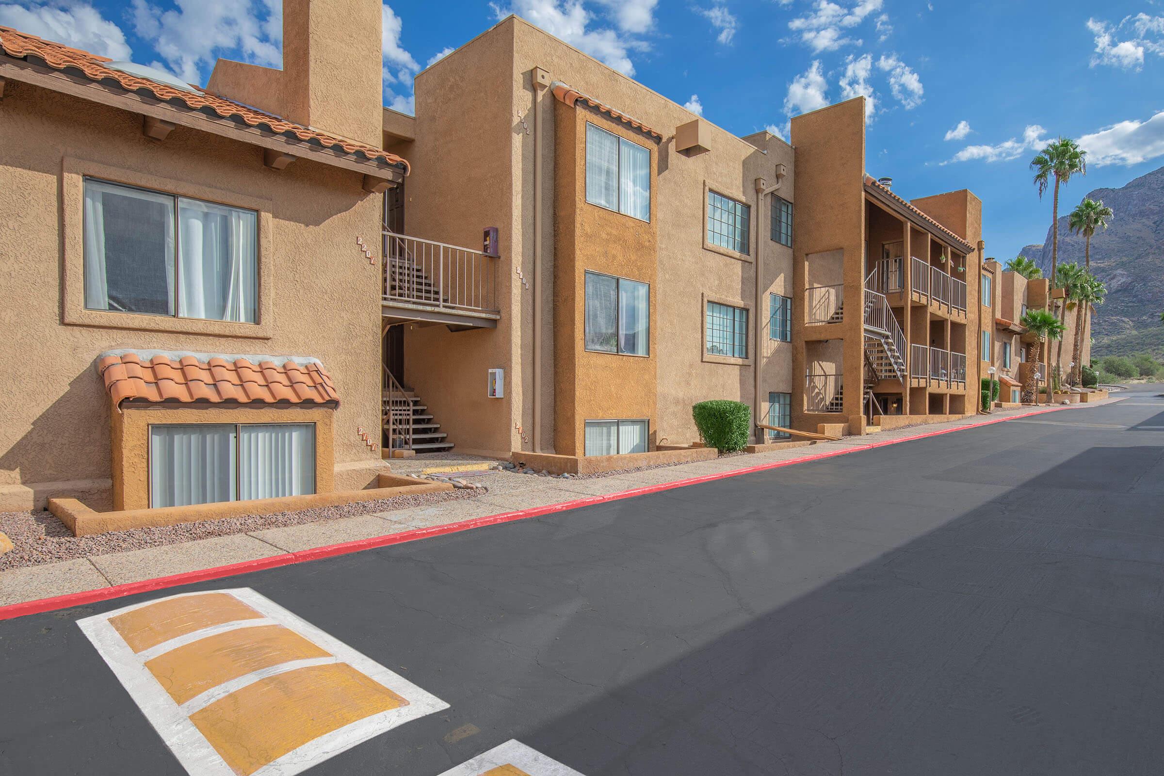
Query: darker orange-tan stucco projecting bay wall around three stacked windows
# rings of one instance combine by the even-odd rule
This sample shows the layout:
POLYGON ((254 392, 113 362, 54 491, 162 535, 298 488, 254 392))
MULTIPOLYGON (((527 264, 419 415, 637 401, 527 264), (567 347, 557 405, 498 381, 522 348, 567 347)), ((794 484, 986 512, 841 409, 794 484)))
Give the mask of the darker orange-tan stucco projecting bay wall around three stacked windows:
MULTIPOLYGON (((651 220, 615 213, 585 201, 587 124, 615 133, 651 152, 651 191, 658 190, 655 144, 609 116, 554 101, 556 214, 554 264, 554 449, 584 455, 585 421, 648 420, 654 435, 655 371, 659 327, 655 325, 659 220, 656 199, 651 220), (651 334, 646 356, 592 353, 585 349, 585 272, 646 283, 651 334)), ((648 442, 654 448, 654 440, 648 442)))

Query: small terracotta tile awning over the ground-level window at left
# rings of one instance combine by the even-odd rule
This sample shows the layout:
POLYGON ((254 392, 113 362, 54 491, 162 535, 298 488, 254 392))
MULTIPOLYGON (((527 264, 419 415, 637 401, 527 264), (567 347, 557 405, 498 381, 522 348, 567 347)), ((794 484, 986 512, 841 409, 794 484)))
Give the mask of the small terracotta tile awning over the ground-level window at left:
POLYGON ((119 350, 101 354, 97 371, 115 407, 129 399, 183 404, 340 400, 332 376, 315 359, 119 350))

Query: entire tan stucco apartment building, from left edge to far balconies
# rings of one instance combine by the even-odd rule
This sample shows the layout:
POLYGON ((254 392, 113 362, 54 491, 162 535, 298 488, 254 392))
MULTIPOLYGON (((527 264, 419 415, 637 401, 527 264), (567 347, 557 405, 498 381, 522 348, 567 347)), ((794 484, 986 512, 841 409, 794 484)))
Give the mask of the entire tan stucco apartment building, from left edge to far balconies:
POLYGON ((981 205, 868 176, 863 99, 738 137, 509 17, 407 116, 378 14, 286 0, 283 70, 206 88, 0 29, 0 508, 653 451, 705 399, 812 432, 975 411, 981 205))

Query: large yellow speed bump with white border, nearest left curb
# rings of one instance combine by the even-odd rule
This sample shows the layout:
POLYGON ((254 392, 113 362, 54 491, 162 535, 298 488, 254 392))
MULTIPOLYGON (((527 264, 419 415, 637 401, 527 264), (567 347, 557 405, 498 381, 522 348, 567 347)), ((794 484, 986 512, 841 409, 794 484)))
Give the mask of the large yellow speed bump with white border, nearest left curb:
POLYGON ((292 776, 448 707, 249 588, 78 626, 192 776, 292 776))

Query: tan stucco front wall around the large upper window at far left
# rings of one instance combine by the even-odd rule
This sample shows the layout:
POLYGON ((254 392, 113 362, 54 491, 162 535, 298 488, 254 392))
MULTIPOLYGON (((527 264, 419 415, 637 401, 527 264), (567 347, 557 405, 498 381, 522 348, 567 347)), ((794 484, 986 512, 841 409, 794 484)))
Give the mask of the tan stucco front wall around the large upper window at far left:
POLYGON ((336 486, 375 479, 383 464, 356 427, 379 425, 381 270, 356 237, 377 244, 381 198, 361 190, 360 173, 308 161, 276 172, 255 147, 182 127, 164 142, 147 140, 141 116, 12 80, 0 137, 0 297, 20 300, 0 309, 0 358, 19 397, 0 408, 0 508, 78 493, 97 508, 112 504, 108 400, 93 365, 112 348, 320 358, 341 397, 336 486), (120 321, 112 318, 65 325, 81 312, 79 300, 65 308, 62 291, 79 261, 64 228, 79 221, 79 201, 66 195, 66 169, 77 161, 102 165, 122 183, 258 202, 265 280, 258 325, 154 319, 154 328, 176 330, 139 330, 113 328, 120 321))

